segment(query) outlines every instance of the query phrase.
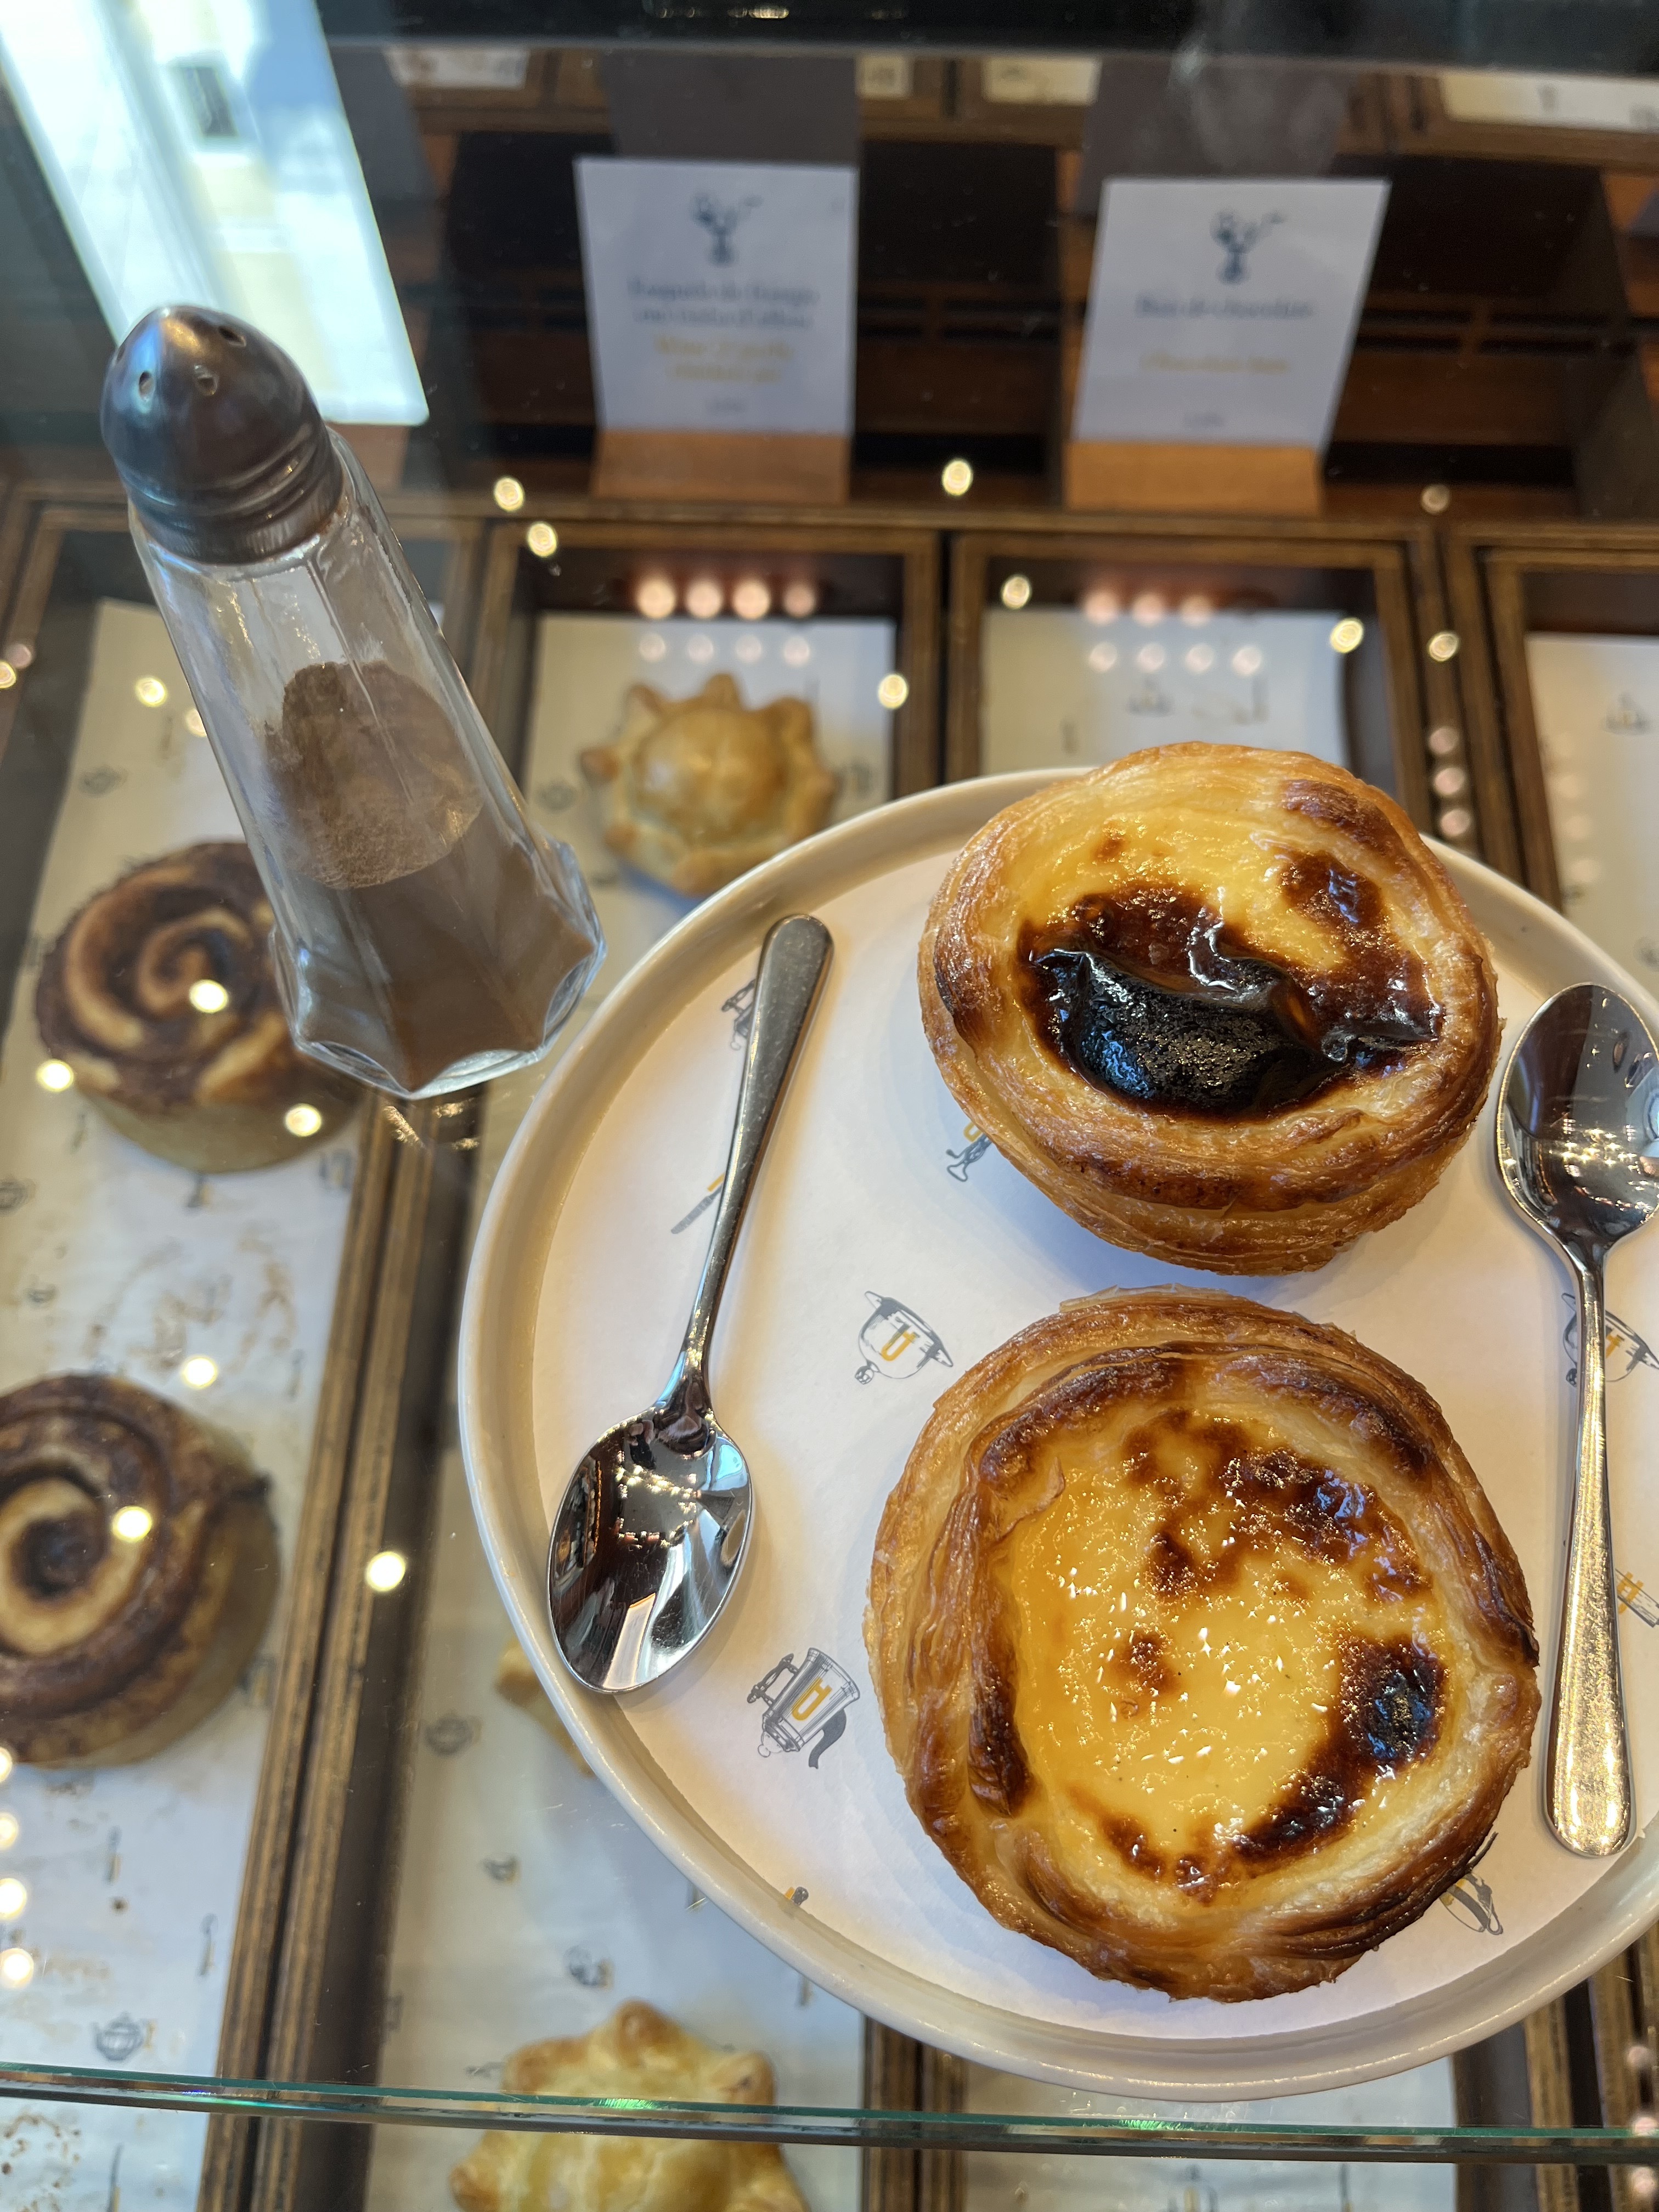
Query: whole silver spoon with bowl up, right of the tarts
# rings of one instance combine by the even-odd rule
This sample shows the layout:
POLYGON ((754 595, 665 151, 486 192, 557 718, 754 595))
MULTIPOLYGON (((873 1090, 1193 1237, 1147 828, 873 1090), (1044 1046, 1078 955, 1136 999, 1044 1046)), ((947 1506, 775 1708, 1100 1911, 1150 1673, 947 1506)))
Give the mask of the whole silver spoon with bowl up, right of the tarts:
POLYGON ((1659 1046, 1637 1009, 1577 982, 1540 1006, 1509 1055, 1498 1172, 1559 1245, 1579 1298, 1579 1451, 1544 1812, 1579 1858, 1630 1840, 1630 1739, 1613 1588, 1601 1270, 1659 1208, 1659 1046))

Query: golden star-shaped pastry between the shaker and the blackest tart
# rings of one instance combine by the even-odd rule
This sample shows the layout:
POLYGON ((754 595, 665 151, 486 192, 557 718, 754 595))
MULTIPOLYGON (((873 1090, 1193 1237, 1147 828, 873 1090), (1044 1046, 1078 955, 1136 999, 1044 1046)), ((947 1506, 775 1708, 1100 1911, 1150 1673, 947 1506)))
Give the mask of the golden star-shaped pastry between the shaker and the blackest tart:
POLYGON ((622 739, 582 772, 604 792, 606 845, 686 898, 823 830, 836 796, 805 699, 745 708, 726 675, 695 699, 635 684, 622 739))

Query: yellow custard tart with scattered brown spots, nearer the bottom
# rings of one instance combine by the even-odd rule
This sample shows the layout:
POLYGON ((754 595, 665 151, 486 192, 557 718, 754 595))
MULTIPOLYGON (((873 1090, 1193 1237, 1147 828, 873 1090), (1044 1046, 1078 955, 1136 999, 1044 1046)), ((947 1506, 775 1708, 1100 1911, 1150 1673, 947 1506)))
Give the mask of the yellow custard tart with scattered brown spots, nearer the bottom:
POLYGON ((1170 1997, 1327 1982, 1416 1920, 1537 1717, 1526 1586, 1440 1409, 1221 1292, 1079 1301, 962 1376, 865 1644, 980 1902, 1170 1997))

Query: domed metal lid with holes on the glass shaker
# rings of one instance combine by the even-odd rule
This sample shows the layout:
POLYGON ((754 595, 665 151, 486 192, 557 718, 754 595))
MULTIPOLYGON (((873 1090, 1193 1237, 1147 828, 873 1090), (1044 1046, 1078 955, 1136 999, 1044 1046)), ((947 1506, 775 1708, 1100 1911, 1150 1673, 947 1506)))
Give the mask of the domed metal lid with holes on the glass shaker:
POLYGON ((341 458, 301 372, 212 307, 153 307, 128 330, 97 427, 146 531, 190 560, 270 560, 341 498, 341 458))

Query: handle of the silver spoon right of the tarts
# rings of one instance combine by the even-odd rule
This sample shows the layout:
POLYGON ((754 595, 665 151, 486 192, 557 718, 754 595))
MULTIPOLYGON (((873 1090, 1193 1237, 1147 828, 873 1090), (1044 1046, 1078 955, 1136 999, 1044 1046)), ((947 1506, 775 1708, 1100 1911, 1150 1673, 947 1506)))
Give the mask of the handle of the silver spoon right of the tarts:
POLYGON ((1606 1316, 1599 1252, 1568 1256, 1579 1292, 1579 1462, 1544 1798, 1548 1823, 1568 1851, 1606 1858, 1630 1838, 1630 1743, 1608 1506, 1606 1316))

